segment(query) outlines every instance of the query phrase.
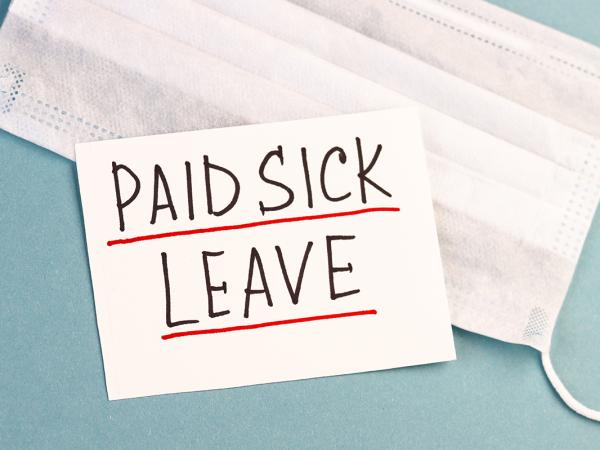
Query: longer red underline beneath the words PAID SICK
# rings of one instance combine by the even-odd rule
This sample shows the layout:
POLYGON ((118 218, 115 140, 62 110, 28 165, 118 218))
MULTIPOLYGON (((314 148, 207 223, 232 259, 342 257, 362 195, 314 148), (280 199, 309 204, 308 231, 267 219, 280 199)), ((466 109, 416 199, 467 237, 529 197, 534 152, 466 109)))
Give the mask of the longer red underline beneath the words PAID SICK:
POLYGON ((191 234, 214 233, 216 231, 241 230, 244 228, 262 227, 265 225, 275 225, 278 223, 302 222, 304 220, 332 219, 335 217, 356 216, 359 214, 367 214, 367 213, 374 213, 374 212, 399 212, 399 211, 400 211, 400 208, 365 208, 365 209, 357 209, 354 211, 342 211, 342 212, 329 213, 329 214, 315 214, 312 216, 283 217, 281 219, 261 220, 258 222, 240 223, 237 225, 222 225, 219 227, 196 228, 194 230, 171 231, 168 233, 147 234, 144 236, 135 236, 135 237, 126 238, 126 239, 114 239, 112 241, 108 241, 106 243, 106 245, 108 245, 110 247, 112 245, 131 244, 133 242, 150 241, 152 239, 164 239, 164 238, 175 237, 175 236, 189 236, 191 234))

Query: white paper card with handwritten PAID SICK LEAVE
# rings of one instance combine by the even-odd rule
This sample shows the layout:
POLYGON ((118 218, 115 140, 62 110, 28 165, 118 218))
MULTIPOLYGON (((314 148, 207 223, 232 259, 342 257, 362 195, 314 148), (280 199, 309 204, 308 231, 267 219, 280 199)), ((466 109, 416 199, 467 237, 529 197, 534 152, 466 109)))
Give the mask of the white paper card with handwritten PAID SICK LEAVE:
POLYGON ((76 151, 110 399, 455 358, 416 110, 76 151))

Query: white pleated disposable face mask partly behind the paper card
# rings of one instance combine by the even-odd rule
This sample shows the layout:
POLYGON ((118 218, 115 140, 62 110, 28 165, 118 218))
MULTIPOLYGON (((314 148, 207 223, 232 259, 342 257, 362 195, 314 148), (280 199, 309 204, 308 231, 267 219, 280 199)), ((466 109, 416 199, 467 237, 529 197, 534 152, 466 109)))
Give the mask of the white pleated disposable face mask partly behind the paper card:
POLYGON ((419 105, 455 325, 549 350, 600 193, 600 51, 471 0, 14 0, 0 126, 76 142, 419 105))

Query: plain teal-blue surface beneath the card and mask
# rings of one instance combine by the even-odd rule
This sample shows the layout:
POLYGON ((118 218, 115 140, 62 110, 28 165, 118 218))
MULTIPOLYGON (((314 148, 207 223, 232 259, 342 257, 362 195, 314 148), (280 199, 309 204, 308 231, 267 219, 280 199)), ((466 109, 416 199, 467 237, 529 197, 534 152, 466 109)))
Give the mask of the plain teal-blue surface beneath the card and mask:
MULTIPOLYGON (((600 45, 595 0, 496 1, 600 45)), ((3 9, 7 2, 2 1, 3 9)), ((600 214, 553 358, 600 409, 600 214)), ((0 448, 598 448, 539 354, 454 329, 458 361, 109 402, 73 162, 0 132, 0 448)))

